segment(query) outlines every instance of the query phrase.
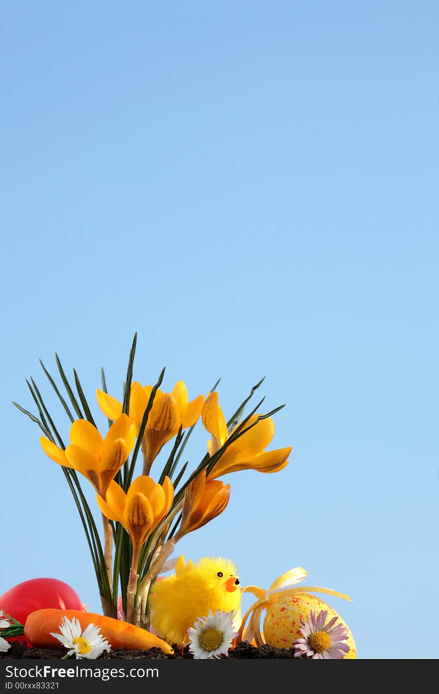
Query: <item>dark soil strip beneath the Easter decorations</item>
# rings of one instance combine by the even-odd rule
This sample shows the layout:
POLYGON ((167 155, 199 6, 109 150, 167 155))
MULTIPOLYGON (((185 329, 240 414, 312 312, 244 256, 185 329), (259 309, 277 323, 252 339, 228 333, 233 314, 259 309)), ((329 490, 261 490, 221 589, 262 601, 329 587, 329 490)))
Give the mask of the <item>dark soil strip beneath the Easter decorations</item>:
MULTIPOLYGON (((65 650, 51 650, 49 648, 26 648, 24 643, 12 643, 10 649, 6 653, 0 653, 0 658, 24 658, 24 659, 60 659, 65 655, 65 650)), ((223 655, 221 658, 226 658, 223 655)), ((239 643, 236 648, 232 648, 229 651, 229 658, 243 658, 243 659, 272 659, 272 658, 293 658, 294 648, 275 648, 275 646, 269 646, 268 644, 256 648, 252 646, 251 643, 243 641, 239 643)), ((181 649, 175 648, 173 655, 166 655, 159 648, 151 648, 147 651, 124 651, 121 648, 111 651, 110 653, 103 653, 103 660, 131 660, 131 659, 145 659, 145 660, 175 660, 175 659, 193 659, 191 653, 189 653, 189 646, 184 648, 183 654, 181 649)))

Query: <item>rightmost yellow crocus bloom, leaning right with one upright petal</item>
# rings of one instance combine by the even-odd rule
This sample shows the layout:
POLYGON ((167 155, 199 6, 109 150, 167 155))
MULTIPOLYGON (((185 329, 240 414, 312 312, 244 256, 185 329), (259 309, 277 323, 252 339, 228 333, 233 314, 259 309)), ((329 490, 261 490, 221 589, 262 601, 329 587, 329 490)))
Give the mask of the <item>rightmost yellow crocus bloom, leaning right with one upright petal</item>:
MULTIPOLYGON (((243 429, 247 429, 257 421, 258 416, 258 414, 252 415, 243 429)), ((227 432, 225 416, 218 405, 218 393, 215 391, 206 398, 202 421, 205 429, 209 434, 212 434, 212 439, 207 442, 207 450, 212 456, 237 428, 236 426, 231 434, 227 432)), ((225 449, 223 455, 207 475, 207 480, 214 480, 216 477, 239 470, 251 469, 260 473, 275 473, 283 470, 288 465, 291 446, 277 450, 264 450, 274 435, 275 423, 273 419, 271 417, 261 419, 225 449)))

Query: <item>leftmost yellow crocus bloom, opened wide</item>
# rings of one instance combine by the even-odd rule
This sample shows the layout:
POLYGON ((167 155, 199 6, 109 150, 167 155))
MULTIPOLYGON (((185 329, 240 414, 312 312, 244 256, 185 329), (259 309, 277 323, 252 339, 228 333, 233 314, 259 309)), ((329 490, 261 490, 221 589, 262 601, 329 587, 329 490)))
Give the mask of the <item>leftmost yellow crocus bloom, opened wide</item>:
POLYGON ((40 443, 49 458, 87 477, 97 493, 105 499, 108 486, 130 455, 135 439, 135 426, 126 414, 121 414, 105 439, 90 422, 77 419, 71 425, 70 446, 65 450, 43 436, 40 443))

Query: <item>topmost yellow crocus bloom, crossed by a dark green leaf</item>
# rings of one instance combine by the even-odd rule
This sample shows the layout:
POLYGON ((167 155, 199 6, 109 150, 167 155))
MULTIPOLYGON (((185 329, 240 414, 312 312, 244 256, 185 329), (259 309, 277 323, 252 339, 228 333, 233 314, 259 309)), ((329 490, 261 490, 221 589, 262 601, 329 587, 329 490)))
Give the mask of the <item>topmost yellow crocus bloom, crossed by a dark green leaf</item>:
MULTIPOLYGON (((141 386, 137 381, 131 385, 129 414, 137 427, 137 432, 139 432, 152 389, 152 386, 141 386)), ((97 389, 96 394, 103 414, 114 421, 122 412, 122 403, 100 389, 97 389)), ((165 443, 175 437, 180 426, 187 429, 196 423, 203 409, 203 403, 202 395, 188 401, 187 388, 183 381, 175 384, 172 393, 164 393, 157 389, 142 440, 144 475, 148 475, 160 450, 165 443)))

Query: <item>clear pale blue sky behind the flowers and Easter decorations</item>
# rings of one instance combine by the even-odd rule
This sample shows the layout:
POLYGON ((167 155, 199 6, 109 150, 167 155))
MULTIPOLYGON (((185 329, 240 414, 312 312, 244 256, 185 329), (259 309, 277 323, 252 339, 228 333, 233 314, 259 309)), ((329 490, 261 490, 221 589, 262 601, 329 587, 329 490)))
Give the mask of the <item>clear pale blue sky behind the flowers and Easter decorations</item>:
POLYGON ((137 330, 143 383, 221 376, 230 414, 266 375, 288 405, 290 466, 230 475, 180 551, 265 587, 304 566, 354 598, 330 602, 359 657, 438 657, 438 15, 1 3, 0 593, 47 575, 98 609, 64 477, 10 401, 34 409, 33 375, 67 438, 38 357, 94 401, 137 330))

